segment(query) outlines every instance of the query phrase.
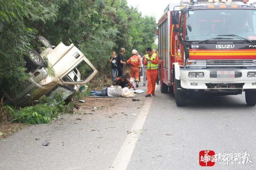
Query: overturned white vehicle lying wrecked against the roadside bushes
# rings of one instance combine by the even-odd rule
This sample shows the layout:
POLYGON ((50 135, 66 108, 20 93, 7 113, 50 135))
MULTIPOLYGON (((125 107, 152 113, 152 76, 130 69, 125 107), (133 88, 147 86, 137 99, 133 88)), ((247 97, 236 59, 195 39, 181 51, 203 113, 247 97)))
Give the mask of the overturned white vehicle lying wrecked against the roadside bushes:
POLYGON ((29 78, 18 84, 12 93, 5 94, 15 106, 30 105, 31 101, 43 95, 52 96, 56 92, 66 100, 98 72, 74 44, 66 46, 60 43, 53 49, 48 40, 42 40, 44 50, 40 54, 29 50, 25 58, 29 78), (44 67, 46 64, 50 69, 44 67))

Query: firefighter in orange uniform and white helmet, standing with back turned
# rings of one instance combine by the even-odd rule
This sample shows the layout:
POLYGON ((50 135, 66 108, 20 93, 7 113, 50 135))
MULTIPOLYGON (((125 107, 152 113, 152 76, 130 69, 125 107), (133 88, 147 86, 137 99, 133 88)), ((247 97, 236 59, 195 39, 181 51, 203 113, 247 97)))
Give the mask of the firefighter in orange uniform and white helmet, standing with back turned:
POLYGON ((135 77, 135 81, 136 81, 136 87, 139 87, 139 74, 140 74, 140 57, 138 55, 136 55, 137 51, 135 49, 132 50, 132 57, 130 57, 129 60, 126 61, 127 64, 131 64, 131 68, 130 68, 130 74, 131 77, 134 78, 135 77))

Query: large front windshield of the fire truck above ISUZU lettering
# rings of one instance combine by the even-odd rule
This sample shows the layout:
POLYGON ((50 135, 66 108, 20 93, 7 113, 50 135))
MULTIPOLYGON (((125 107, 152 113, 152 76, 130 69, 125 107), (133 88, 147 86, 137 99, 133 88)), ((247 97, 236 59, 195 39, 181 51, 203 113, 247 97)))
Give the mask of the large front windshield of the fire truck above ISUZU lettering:
POLYGON ((222 41, 256 40, 256 10, 190 10, 185 22, 186 41, 204 41, 216 37, 223 37, 222 41), (222 35, 237 36, 230 39, 230 36, 222 35))

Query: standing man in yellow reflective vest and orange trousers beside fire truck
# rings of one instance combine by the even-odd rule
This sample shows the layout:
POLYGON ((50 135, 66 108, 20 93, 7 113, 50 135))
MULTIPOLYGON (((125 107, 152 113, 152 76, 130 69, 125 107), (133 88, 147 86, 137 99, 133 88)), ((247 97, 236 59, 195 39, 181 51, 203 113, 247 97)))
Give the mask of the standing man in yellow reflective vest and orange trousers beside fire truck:
POLYGON ((155 96, 156 80, 158 76, 158 55, 153 53, 151 48, 147 48, 147 54, 144 58, 146 66, 146 75, 148 80, 148 91, 146 97, 155 96))

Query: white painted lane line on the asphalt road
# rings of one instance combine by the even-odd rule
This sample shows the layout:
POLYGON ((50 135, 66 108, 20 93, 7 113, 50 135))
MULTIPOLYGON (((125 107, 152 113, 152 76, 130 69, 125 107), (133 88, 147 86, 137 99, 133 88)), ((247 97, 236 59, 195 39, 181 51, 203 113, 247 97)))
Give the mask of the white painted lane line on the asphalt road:
MULTIPOLYGON (((156 85, 157 88, 157 85, 156 85)), ((140 136, 141 130, 143 128, 143 125, 146 121, 149 108, 151 106, 152 100, 154 97, 147 98, 144 106, 140 110, 140 114, 138 115, 136 121, 134 122, 131 133, 127 135, 126 140, 124 141, 124 144, 122 145, 122 148, 120 149, 118 155, 116 156, 116 159, 114 160, 112 164, 112 169, 114 170, 125 170, 130 158, 132 156, 132 152, 134 150, 134 147, 136 146, 136 143, 138 141, 138 138, 140 136)))

